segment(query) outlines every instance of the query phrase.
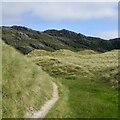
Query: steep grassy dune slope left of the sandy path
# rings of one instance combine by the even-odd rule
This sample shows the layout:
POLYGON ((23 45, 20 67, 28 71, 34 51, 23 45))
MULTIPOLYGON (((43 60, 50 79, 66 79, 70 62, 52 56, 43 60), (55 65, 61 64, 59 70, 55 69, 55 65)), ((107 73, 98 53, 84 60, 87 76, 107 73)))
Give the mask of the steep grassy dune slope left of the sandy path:
POLYGON ((5 43, 2 52, 2 117, 22 118, 51 98, 52 78, 5 43))

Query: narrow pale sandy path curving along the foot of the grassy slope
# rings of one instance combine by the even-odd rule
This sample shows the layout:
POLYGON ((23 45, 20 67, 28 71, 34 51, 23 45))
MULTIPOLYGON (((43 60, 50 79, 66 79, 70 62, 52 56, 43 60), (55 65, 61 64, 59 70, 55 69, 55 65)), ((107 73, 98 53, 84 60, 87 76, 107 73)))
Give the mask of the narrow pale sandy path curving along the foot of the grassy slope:
POLYGON ((53 84, 52 98, 50 100, 46 101, 46 103, 41 107, 41 109, 39 111, 32 113, 32 115, 30 113, 28 113, 25 116, 26 118, 44 118, 47 115, 47 113, 49 112, 49 110, 54 106, 54 104, 58 100, 59 96, 58 96, 57 85, 54 82, 52 84, 53 84))

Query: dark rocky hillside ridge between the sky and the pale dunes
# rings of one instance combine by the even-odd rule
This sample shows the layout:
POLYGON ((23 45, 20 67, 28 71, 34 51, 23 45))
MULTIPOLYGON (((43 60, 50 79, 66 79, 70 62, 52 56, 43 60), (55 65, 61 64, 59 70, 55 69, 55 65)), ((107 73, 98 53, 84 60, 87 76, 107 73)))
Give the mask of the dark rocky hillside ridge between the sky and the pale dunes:
POLYGON ((90 49, 98 52, 120 49, 119 38, 104 40, 65 29, 40 32, 22 26, 3 26, 2 39, 24 54, 34 49, 43 49, 47 51, 59 49, 80 51, 90 49))

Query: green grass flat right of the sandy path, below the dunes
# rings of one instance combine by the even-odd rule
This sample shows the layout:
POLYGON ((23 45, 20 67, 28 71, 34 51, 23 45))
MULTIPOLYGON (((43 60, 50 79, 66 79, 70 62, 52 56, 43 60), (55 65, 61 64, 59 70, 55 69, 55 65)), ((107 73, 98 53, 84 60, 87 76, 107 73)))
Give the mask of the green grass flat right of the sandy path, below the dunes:
POLYGON ((60 87, 60 99, 49 112, 48 118, 118 117, 118 91, 115 89, 86 77, 76 77, 72 80, 59 78, 58 80, 66 89, 63 90, 60 87), (67 106, 63 102, 66 102, 64 104, 67 106))

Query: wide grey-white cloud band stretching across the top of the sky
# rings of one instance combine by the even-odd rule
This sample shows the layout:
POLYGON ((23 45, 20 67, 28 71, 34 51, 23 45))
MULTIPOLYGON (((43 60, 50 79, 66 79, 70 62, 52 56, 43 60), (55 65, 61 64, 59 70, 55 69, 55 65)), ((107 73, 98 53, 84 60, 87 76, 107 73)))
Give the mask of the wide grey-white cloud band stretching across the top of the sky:
POLYGON ((33 17, 53 21, 91 20, 117 17, 117 8, 114 3, 3 3, 3 20, 22 18, 27 13, 31 13, 33 17))

